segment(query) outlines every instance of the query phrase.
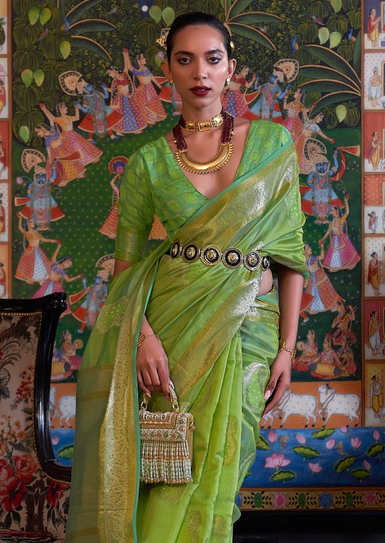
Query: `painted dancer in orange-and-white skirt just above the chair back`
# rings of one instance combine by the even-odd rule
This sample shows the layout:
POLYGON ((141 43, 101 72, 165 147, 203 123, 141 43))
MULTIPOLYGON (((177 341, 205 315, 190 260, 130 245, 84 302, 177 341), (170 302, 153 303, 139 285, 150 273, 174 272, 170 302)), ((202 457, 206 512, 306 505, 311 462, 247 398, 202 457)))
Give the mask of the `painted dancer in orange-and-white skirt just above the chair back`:
POLYGON ((34 219, 19 217, 18 229, 23 235, 23 254, 16 268, 16 279, 25 281, 27 285, 40 283, 49 273, 51 263, 40 247, 40 242, 58 243, 57 239, 43 238, 37 231, 34 219))

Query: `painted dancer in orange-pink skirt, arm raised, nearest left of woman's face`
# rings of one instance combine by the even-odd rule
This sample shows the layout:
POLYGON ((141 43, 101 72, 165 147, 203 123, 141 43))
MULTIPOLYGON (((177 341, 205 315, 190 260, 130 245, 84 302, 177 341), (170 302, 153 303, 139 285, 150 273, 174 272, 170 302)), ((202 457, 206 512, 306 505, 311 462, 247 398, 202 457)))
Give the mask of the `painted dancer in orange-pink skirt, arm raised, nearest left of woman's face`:
MULTIPOLYGON (((131 64, 129 53, 125 53, 125 65, 134 75, 135 92, 133 100, 142 113, 147 124, 155 124, 158 121, 164 121, 167 113, 163 107, 154 85, 162 90, 156 77, 152 75, 150 68, 146 67, 147 60, 143 53, 136 55, 134 66, 131 64)), ((171 85, 170 85, 171 86, 171 85)))

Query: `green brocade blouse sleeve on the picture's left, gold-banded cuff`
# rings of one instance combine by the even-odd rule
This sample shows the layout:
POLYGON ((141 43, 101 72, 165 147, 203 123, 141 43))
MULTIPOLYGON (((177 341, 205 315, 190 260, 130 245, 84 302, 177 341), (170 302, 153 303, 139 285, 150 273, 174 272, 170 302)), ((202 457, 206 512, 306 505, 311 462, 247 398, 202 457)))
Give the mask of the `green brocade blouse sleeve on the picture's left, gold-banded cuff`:
POLYGON ((153 222, 150 182, 140 151, 130 156, 118 200, 115 258, 134 264, 143 259, 153 222))

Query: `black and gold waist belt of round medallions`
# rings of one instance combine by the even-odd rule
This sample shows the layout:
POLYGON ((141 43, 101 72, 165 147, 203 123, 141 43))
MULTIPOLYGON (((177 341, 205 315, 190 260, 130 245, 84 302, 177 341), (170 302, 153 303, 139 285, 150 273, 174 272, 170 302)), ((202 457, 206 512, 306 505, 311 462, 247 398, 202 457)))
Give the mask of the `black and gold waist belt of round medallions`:
POLYGON ((239 249, 232 247, 222 253, 221 249, 216 245, 206 245, 206 247, 200 249, 196 243, 192 242, 182 246, 178 239, 171 245, 170 256, 172 260, 181 256, 185 262, 195 262, 200 258, 206 266, 215 266, 215 264, 222 262, 224 266, 232 269, 243 264, 245 268, 251 271, 258 270, 259 267, 266 271, 270 266, 270 257, 261 256, 258 251, 243 255, 239 249))

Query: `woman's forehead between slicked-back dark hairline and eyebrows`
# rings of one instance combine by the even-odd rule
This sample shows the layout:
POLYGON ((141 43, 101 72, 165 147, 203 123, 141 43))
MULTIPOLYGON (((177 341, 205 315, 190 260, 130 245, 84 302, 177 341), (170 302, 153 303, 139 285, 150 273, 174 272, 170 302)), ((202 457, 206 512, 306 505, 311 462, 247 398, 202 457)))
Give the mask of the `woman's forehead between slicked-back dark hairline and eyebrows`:
POLYGON ((219 30, 207 24, 188 26, 179 30, 174 38, 173 54, 188 52, 191 55, 204 55, 211 52, 225 53, 223 36, 219 30))

